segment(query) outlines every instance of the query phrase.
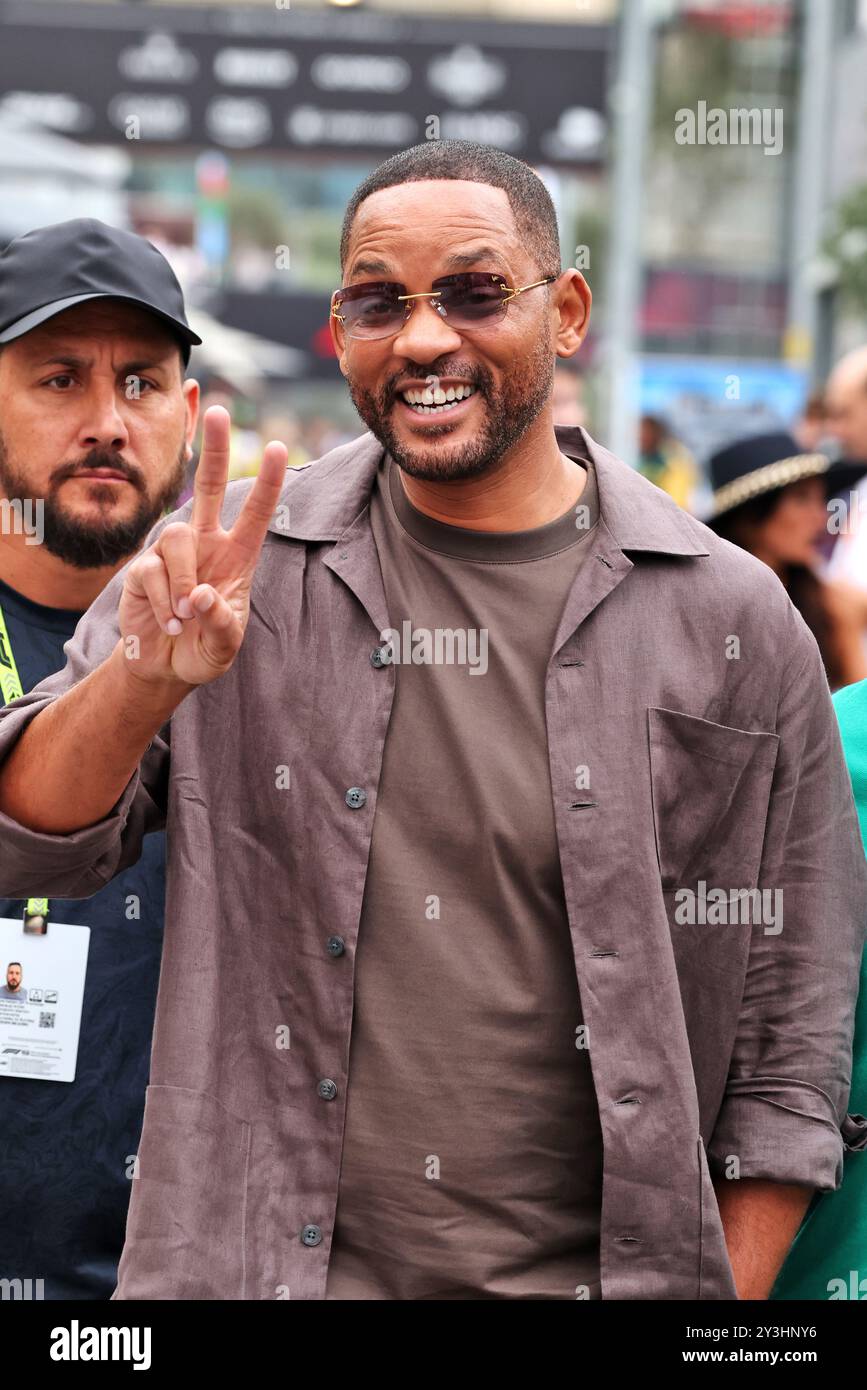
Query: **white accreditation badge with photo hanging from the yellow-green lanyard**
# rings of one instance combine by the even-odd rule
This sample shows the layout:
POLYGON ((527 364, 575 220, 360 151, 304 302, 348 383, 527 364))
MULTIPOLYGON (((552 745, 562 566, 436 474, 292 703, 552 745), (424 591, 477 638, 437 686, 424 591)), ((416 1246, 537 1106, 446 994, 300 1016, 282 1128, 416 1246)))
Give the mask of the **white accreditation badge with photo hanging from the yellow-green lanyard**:
POLYGON ((89 945, 90 927, 0 917, 0 1079, 75 1080, 89 945))

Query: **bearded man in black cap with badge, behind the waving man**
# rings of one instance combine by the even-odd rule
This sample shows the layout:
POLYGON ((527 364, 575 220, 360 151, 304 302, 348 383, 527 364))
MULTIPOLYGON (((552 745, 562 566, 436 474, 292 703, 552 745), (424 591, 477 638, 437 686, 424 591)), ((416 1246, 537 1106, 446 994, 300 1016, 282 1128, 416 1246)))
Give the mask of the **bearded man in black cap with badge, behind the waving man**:
MULTIPOLYGON (((4 702, 63 669, 82 613, 176 505, 199 342, 171 267, 140 236, 79 218, 0 254, 4 702)), ((160 833, 94 897, 50 902, 49 951, 63 923, 92 929, 75 1080, 0 1077, 0 1277, 40 1277, 47 1298, 110 1298, 117 1282, 164 898, 160 833)), ((0 899, 0 917, 22 922, 28 905, 0 899)))

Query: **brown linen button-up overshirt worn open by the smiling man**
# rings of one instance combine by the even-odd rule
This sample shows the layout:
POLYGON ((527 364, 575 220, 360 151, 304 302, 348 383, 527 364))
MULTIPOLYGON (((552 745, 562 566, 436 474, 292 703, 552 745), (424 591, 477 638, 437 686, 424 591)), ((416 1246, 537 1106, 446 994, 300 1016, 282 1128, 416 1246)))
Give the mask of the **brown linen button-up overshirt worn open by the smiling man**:
MULTIPOLYGON (((818 649, 775 575, 586 432, 556 434, 589 449, 600 509, 546 716, 604 1144, 602 1295, 735 1298, 711 1175, 832 1190, 843 1145, 866 1143, 846 1115, 867 920, 852 788, 818 649), (771 920, 702 906, 752 888, 771 920)), ((396 677, 370 524, 381 457, 365 434, 286 474, 238 659, 183 701, 101 821, 50 835, 0 816, 0 895, 17 898, 88 897, 144 833, 168 834, 115 1298, 325 1293, 396 677)), ((225 524, 249 486, 229 484, 225 524)), ((65 669, 0 710, 0 759, 110 655, 124 575, 65 669)))

